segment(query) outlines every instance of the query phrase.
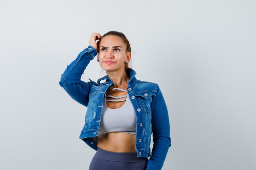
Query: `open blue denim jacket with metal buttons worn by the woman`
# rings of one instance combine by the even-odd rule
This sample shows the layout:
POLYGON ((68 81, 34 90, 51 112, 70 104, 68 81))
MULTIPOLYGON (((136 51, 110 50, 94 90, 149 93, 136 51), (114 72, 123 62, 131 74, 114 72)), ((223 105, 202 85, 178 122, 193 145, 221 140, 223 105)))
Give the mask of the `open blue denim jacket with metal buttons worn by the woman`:
MULTIPOLYGON (((97 82, 83 82, 81 76, 97 50, 88 46, 67 66, 59 84, 76 102, 87 107, 85 125, 79 136, 88 146, 97 150, 103 95, 108 87, 115 85, 108 75, 97 82), (105 80, 101 83, 101 80, 105 80)), ((147 170, 161 170, 171 146, 168 110, 162 92, 156 83, 137 80, 136 72, 128 68, 128 96, 136 113, 136 152, 137 157, 150 157, 147 170), (153 133, 152 155, 150 153, 151 132, 153 133)))

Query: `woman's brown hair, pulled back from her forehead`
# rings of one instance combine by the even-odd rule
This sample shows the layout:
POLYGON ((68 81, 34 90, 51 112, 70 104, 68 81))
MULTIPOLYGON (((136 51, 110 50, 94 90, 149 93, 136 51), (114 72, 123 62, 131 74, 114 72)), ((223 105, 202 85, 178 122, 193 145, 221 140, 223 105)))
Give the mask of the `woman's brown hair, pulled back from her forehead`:
MULTIPOLYGON (((102 38, 104 38, 108 35, 115 35, 115 36, 118 36, 119 38, 121 38, 123 40, 124 44, 126 44, 126 52, 131 52, 130 43, 129 43, 128 39, 126 38, 126 36, 124 35, 124 33, 121 33, 121 32, 118 32, 118 31, 109 31, 109 32, 107 32, 107 33, 105 33, 104 35, 101 36, 101 40, 102 40, 102 38)), ((100 43, 101 40, 99 40, 97 42, 98 49, 99 49, 99 43, 100 43)), ((126 71, 127 68, 130 68, 130 67, 128 66, 128 63, 125 63, 125 65, 124 65, 125 71, 126 71)))

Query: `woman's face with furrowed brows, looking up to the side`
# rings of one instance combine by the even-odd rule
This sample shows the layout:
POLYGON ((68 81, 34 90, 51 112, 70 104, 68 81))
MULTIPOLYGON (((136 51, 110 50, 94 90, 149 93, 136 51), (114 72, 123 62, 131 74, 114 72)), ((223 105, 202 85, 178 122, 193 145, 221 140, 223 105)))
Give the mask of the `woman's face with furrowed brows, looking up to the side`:
POLYGON ((126 53, 126 44, 115 35, 108 35, 101 39, 98 59, 100 66, 106 71, 124 69, 126 61, 130 60, 130 52, 126 53))

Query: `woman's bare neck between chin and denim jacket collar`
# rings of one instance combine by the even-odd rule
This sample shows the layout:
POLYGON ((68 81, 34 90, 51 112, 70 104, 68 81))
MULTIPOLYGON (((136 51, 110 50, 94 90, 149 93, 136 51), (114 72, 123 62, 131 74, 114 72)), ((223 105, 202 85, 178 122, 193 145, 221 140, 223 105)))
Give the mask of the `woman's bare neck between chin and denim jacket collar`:
POLYGON ((115 83, 114 88, 121 88, 121 86, 126 87, 130 79, 130 77, 124 71, 123 67, 116 71, 106 71, 106 73, 112 82, 115 83))

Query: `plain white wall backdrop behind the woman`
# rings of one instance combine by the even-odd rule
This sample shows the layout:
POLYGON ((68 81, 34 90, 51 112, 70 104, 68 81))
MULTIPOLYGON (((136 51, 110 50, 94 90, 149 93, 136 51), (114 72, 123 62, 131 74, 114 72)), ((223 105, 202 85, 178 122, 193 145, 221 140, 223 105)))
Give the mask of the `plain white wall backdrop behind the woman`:
MULTIPOLYGON (((0 0, 0 169, 88 170, 86 107, 58 84, 92 32, 123 32, 168 105, 162 170, 256 169, 256 1, 0 0)), ((106 73, 94 58, 82 80, 106 73)), ((153 141, 151 141, 151 148, 153 141)))

